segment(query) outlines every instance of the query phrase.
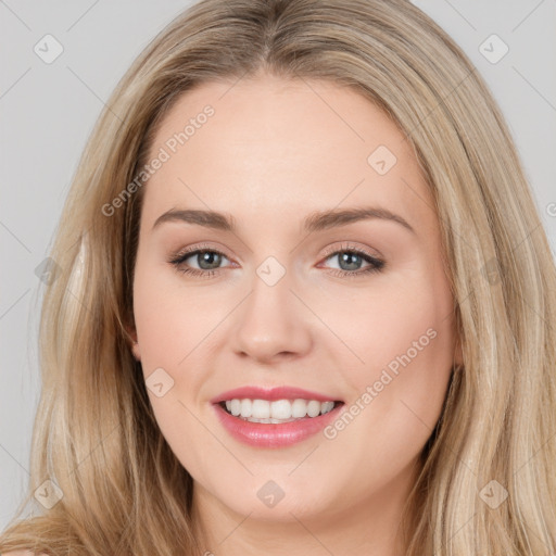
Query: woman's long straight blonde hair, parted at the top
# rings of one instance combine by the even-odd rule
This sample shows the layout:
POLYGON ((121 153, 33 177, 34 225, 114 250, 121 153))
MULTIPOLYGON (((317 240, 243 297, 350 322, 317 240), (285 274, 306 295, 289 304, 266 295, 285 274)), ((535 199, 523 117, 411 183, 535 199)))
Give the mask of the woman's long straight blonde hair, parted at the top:
POLYGON ((123 77, 50 253, 60 271, 41 312, 29 493, 0 551, 203 553, 191 476, 156 426, 130 352, 144 188, 129 184, 178 96, 260 72, 364 94, 405 134, 433 193, 464 364, 422 452, 406 554, 554 553, 554 261, 490 91, 454 41, 403 0, 203 0, 123 77), (41 509, 34 492, 46 480, 63 497, 21 518, 29 502, 41 509), (505 497, 496 507, 493 493, 505 497))

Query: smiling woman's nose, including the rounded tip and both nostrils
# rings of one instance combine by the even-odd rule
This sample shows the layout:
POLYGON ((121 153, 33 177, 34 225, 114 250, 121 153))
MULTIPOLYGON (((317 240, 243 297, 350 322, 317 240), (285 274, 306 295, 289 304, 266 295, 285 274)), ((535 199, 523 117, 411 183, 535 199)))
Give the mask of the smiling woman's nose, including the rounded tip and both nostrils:
POLYGON ((312 313, 290 288, 288 273, 273 286, 255 275, 251 293, 235 312, 235 353, 269 364, 311 350, 312 313))

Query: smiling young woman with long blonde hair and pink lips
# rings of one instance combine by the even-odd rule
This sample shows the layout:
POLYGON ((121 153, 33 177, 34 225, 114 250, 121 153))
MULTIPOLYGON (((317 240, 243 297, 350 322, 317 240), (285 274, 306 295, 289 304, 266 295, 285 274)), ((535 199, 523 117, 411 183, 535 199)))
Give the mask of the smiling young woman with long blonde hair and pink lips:
POLYGON ((401 0, 205 0, 108 104, 2 553, 553 553, 556 273, 454 42, 401 0))

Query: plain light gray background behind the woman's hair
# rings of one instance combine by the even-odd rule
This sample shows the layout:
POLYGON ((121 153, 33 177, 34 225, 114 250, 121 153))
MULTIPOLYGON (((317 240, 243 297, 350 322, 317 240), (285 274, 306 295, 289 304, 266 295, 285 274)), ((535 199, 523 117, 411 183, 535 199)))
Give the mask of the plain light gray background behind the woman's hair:
MULTIPOLYGON (((103 102, 137 54, 190 3, 0 0, 0 529, 28 481, 40 386, 35 268, 103 102), (50 64, 34 51, 47 34, 64 49, 50 64)), ((556 252, 556 0, 415 3, 463 47, 491 87, 556 252), (495 64, 479 51, 492 34, 509 47, 495 64)))

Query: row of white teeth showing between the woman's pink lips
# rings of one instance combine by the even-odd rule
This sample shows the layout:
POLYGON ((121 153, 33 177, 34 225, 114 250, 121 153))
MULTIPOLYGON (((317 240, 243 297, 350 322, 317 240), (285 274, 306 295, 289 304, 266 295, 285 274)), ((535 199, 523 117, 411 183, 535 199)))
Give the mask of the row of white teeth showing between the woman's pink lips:
POLYGON ((319 402, 316 400, 228 400, 218 405, 230 416, 249 422, 282 424, 314 419, 326 415, 340 405, 341 401, 319 402))

